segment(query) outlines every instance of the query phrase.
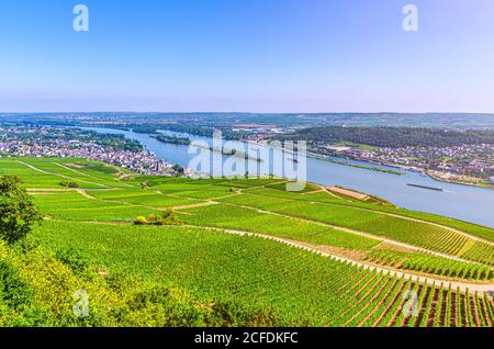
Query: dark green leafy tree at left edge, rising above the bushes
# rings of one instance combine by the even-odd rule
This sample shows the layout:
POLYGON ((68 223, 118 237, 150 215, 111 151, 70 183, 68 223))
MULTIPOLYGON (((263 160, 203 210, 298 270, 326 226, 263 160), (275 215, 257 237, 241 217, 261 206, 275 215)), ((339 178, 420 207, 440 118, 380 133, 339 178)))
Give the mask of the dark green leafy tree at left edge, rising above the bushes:
POLYGON ((43 217, 18 177, 0 177, 0 238, 9 244, 27 235, 43 217))

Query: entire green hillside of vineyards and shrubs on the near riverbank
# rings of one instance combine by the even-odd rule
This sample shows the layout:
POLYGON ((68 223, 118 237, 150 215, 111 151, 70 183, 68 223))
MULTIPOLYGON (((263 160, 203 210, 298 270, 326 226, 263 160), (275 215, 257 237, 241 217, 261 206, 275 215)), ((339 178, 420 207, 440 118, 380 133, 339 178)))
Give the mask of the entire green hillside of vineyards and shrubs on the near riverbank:
POLYGON ((29 290, 24 306, 0 292, 0 325, 493 326, 492 229, 282 179, 124 173, 0 159, 45 216, 22 246, 0 244, 0 281, 9 270, 29 290))

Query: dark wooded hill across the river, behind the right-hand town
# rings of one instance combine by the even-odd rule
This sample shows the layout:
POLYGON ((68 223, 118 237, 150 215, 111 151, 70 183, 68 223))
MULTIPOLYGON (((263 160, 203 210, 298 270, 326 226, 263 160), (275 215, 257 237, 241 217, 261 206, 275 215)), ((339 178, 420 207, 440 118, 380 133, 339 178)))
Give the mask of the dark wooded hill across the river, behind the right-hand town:
POLYGON ((464 144, 494 144, 494 130, 448 131, 415 127, 311 127, 285 135, 283 138, 313 143, 355 143, 375 147, 459 146, 464 144))

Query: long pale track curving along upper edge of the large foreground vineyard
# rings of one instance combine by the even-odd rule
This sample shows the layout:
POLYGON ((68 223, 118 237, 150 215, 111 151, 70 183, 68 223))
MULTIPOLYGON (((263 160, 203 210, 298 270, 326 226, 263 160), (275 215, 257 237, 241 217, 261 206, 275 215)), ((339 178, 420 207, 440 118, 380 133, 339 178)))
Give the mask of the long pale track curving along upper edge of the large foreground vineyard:
MULTIPOLYGON (((63 221, 63 222, 67 222, 67 221, 63 221)), ((121 223, 121 222, 119 222, 119 223, 114 223, 114 222, 79 222, 79 223, 94 224, 94 225, 125 225, 125 224, 128 225, 128 223, 121 223)), ((423 284, 428 284, 428 285, 435 285, 435 284, 437 285, 442 282, 445 284, 445 286, 451 285, 451 288, 453 288, 453 289, 459 288, 460 291, 463 291, 463 292, 469 290, 470 292, 476 291, 479 293, 492 292, 494 290, 494 284, 479 284, 479 283, 468 283, 468 282, 460 282, 460 281, 448 281, 448 280, 442 280, 442 279, 434 278, 434 277, 426 278, 426 277, 417 275, 417 274, 409 273, 409 272, 402 272, 402 271, 397 271, 397 270, 386 268, 386 267, 378 267, 378 266, 369 264, 366 262, 356 261, 353 259, 335 256, 335 255, 332 255, 328 252, 321 251, 317 248, 308 247, 307 245, 301 244, 300 241, 284 239, 284 238, 280 238, 280 237, 273 237, 270 235, 263 235, 263 234, 257 234, 257 233, 250 233, 250 232, 244 232, 244 230, 236 230, 236 229, 224 229, 224 228, 210 227, 210 226, 200 226, 200 225, 186 225, 184 224, 184 225, 173 225, 173 227, 202 228, 202 229, 210 230, 210 232, 226 233, 226 234, 232 234, 232 235, 237 235, 237 236, 258 237, 258 238, 284 244, 288 246, 296 247, 296 248, 300 248, 300 249, 303 249, 303 250, 306 250, 306 251, 310 251, 310 252, 313 252, 313 254, 316 254, 316 255, 319 255, 323 257, 330 258, 333 260, 347 262, 355 267, 361 267, 368 271, 377 271, 377 272, 388 273, 390 277, 413 279, 416 282, 420 282, 423 284)))

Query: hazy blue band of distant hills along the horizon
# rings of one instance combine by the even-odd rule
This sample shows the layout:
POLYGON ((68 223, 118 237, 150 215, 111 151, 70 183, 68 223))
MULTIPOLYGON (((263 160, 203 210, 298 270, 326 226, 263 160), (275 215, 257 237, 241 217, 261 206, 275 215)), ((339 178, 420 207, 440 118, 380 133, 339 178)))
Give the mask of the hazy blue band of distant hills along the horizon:
POLYGON ((1 122, 16 123, 169 123, 203 125, 260 124, 274 126, 395 126, 429 128, 494 128, 494 114, 474 113, 20 113, 1 114, 1 122))

